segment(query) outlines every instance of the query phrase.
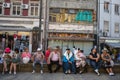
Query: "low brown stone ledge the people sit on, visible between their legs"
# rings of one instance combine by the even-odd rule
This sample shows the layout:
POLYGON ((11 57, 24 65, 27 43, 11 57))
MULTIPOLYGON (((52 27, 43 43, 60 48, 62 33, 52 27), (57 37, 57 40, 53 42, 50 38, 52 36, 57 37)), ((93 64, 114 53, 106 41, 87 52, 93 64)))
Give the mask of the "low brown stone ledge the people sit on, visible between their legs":
MULTIPOLYGON (((2 68, 3 68, 3 65, 0 64, 0 72, 2 72, 2 68)), ((55 69, 55 66, 53 65, 53 70, 54 69, 55 69)), ((44 72, 48 72, 47 64, 44 64, 43 70, 44 72)), ((115 73, 120 73, 120 65, 115 65, 113 70, 115 73)), ((90 65, 87 65, 86 71, 93 72, 93 68, 90 65)), ((17 72, 32 72, 32 63, 17 65, 17 72)), ((40 72, 40 65, 36 65, 36 72, 40 72)), ((60 68, 59 72, 63 72, 62 67, 60 68)), ((104 68, 100 68, 100 72, 104 73, 106 71, 104 68)))

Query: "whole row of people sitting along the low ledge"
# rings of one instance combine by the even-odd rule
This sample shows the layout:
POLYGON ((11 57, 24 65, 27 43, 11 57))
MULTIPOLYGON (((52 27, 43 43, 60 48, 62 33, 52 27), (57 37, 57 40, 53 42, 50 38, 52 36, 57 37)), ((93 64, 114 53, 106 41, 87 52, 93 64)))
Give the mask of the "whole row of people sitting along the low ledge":
POLYGON ((94 72, 100 75, 100 68, 104 68, 108 75, 115 75, 113 72, 114 62, 106 48, 99 54, 96 48, 92 48, 90 54, 86 57, 83 50, 73 47, 73 50, 67 48, 64 53, 58 47, 52 48, 48 46, 45 53, 38 48, 34 54, 29 53, 25 48, 22 53, 19 49, 12 51, 9 47, 5 48, 0 54, 0 63, 3 64, 2 74, 16 74, 16 66, 19 64, 27 64, 32 62, 33 71, 36 72, 36 64, 40 64, 40 73, 44 73, 44 63, 46 62, 49 73, 56 73, 61 67, 65 74, 82 74, 86 71, 86 66, 90 64, 94 72), (53 65, 56 65, 53 70, 53 65))

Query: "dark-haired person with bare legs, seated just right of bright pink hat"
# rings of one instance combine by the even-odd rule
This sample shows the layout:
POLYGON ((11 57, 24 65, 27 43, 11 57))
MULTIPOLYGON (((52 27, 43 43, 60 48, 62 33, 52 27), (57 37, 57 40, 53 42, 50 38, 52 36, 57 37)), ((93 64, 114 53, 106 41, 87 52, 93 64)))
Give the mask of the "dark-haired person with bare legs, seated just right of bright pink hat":
POLYGON ((9 74, 11 74, 12 69, 14 69, 14 74, 16 74, 16 65, 17 65, 17 63, 19 61, 18 54, 19 54, 19 50, 15 49, 15 52, 12 54, 9 74))

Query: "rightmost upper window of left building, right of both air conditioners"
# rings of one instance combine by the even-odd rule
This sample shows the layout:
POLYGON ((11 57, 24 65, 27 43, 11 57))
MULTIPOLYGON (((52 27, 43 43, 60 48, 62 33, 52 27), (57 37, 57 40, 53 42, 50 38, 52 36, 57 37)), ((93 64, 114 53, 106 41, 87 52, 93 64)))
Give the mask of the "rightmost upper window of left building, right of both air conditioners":
POLYGON ((29 9, 30 16, 39 16, 39 1, 31 1, 30 2, 30 9, 29 9))

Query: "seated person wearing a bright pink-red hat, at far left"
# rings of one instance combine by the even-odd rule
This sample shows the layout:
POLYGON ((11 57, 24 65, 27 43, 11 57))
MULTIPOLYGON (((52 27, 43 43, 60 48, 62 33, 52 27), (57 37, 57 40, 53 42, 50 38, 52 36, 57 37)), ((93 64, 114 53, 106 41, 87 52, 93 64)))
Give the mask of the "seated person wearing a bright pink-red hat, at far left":
POLYGON ((3 57, 3 72, 2 72, 2 74, 4 74, 4 72, 8 71, 7 65, 10 63, 10 59, 11 59, 10 52, 11 52, 10 48, 6 48, 3 53, 3 56, 2 56, 3 57))

